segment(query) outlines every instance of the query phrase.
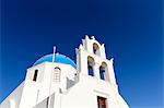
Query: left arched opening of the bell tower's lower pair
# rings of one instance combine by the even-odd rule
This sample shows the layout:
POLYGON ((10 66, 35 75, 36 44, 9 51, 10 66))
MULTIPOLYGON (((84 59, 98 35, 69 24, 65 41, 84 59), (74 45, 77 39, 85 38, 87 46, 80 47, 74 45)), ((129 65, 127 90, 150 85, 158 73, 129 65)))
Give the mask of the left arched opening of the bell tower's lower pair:
POLYGON ((89 75, 94 76, 94 70, 93 70, 94 64, 95 64, 94 59, 89 56, 87 57, 87 72, 89 72, 89 75))

